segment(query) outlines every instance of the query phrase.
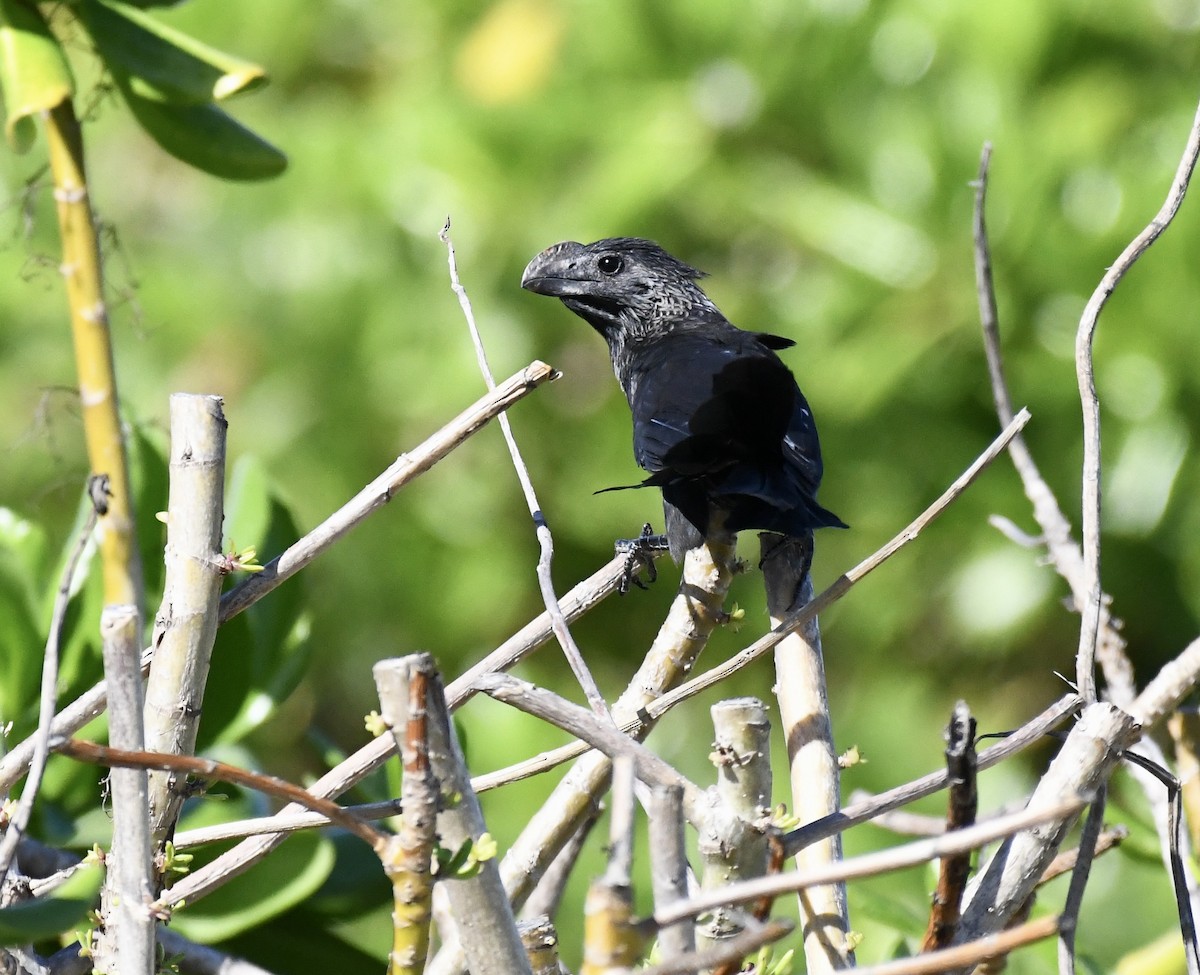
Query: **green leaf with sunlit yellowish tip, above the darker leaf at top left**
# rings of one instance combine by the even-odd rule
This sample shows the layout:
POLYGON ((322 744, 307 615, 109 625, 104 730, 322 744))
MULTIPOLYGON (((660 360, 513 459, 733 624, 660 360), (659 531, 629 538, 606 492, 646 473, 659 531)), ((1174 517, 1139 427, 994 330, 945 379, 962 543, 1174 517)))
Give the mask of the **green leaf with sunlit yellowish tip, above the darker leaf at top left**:
POLYGON ((251 91, 266 72, 119 0, 82 0, 76 13, 110 68, 144 98, 200 104, 251 91))

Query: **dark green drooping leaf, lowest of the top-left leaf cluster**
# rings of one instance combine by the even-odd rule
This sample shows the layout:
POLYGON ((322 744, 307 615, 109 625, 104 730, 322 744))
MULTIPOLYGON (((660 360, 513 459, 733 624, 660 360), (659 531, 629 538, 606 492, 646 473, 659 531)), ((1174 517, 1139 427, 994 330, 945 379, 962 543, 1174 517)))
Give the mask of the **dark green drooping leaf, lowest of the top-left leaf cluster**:
POLYGON ((175 158, 222 179, 270 179, 282 173, 288 157, 211 102, 176 104, 138 95, 128 74, 113 68, 133 116, 150 137, 175 158))

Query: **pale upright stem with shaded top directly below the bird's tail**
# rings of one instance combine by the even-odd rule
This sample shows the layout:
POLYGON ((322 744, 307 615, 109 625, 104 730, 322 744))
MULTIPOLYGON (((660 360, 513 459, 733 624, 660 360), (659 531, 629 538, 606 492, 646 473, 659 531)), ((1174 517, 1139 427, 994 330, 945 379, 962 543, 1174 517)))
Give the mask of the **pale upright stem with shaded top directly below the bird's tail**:
MULTIPOLYGON (((768 550, 778 536, 760 536, 763 542, 763 581, 772 626, 812 599, 812 580, 799 567, 812 560, 812 537, 787 538, 768 550), (803 551, 803 549, 808 551, 803 551), (798 554, 796 550, 800 550, 798 554)), ((775 647, 775 693, 779 717, 787 742, 792 806, 802 824, 835 813, 840 806, 840 770, 829 720, 821 627, 814 616, 775 647)), ((798 869, 811 869, 841 860, 841 836, 832 836, 805 847, 796 855, 798 869)), ((800 919, 804 925, 804 955, 808 970, 818 975, 853 968, 854 952, 848 944, 850 913, 846 885, 829 884, 800 891, 800 919)))

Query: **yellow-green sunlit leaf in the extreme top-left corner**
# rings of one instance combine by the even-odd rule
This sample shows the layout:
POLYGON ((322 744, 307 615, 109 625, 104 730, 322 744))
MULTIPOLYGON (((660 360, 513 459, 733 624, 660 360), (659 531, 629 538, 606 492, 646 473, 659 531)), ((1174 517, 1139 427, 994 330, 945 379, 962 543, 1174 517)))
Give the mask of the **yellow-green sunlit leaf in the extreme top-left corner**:
POLYGON ((0 88, 14 152, 34 144, 35 116, 71 97, 74 84, 62 48, 42 14, 19 0, 0 0, 0 88))

